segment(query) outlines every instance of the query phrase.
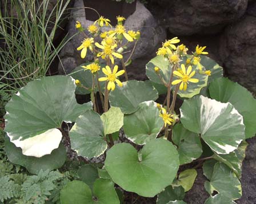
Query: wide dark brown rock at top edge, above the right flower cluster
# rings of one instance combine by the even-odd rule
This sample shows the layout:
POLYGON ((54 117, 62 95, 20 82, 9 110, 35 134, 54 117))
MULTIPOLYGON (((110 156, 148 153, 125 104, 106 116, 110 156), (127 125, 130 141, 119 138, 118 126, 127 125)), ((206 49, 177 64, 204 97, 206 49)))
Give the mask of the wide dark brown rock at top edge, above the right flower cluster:
POLYGON ((242 17, 246 7, 247 0, 155 0, 151 9, 172 34, 181 36, 215 34, 242 17))

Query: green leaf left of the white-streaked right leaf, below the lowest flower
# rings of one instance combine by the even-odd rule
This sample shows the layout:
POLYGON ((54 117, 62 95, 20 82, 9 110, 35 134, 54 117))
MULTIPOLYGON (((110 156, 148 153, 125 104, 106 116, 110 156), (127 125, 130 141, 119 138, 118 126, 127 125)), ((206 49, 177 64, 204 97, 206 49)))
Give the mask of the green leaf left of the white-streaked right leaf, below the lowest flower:
POLYGON ((202 154, 200 137, 185 129, 182 124, 173 127, 173 142, 178 146, 180 165, 190 163, 202 154))

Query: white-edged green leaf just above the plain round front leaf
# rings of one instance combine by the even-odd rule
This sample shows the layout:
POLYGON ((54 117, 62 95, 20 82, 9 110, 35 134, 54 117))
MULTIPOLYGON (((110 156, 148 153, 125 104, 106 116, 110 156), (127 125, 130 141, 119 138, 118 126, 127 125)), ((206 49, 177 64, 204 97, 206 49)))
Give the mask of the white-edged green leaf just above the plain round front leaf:
POLYGON ((163 127, 163 120, 159 117, 157 103, 154 101, 139 104, 136 112, 125 115, 123 123, 125 136, 138 145, 154 140, 163 127))

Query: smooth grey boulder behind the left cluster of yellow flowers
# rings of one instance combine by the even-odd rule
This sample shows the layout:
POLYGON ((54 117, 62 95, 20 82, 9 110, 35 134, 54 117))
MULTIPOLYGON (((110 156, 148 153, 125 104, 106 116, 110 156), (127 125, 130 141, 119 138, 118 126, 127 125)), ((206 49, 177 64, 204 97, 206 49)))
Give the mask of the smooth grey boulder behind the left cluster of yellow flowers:
MULTIPOLYGON (((83 1, 75 1, 74 7, 83 7, 83 1)), ((85 28, 93 23, 92 21, 87 21, 85 16, 85 9, 74 9, 69 25, 69 37, 77 33, 75 28, 76 21, 81 22, 81 25, 85 28)), ((128 67, 127 72, 131 78, 145 79, 145 65, 151 58, 155 56, 155 51, 157 51, 157 48, 161 46, 161 42, 163 42, 166 38, 166 32, 159 27, 150 11, 147 10, 146 7, 143 6, 139 1, 137 2, 136 11, 126 19, 125 27, 127 30, 141 31, 141 39, 139 39, 132 57, 133 63, 128 67), (143 64, 141 64, 141 62, 143 62, 143 64)), ((93 60, 93 56, 90 54, 88 54, 85 59, 81 59, 80 51, 77 51, 77 47, 80 46, 83 38, 85 38, 85 36, 82 33, 75 35, 62 49, 60 53, 62 64, 59 63, 58 66, 60 74, 64 74, 63 67, 65 68, 66 72, 69 73, 86 60, 93 60), (69 58, 69 60, 66 61, 66 58, 69 58), (73 58, 73 60, 71 60, 71 58, 73 58)), ((133 45, 134 43, 130 43, 127 51, 131 51, 133 45)), ((128 56, 129 53, 123 55, 125 60, 128 58, 128 56)))

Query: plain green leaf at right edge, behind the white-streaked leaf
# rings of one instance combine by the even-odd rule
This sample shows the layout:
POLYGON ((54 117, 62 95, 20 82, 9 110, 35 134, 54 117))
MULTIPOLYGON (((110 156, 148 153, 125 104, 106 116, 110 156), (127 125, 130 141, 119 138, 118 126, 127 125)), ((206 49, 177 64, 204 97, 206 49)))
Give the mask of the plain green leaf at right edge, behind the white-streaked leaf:
POLYGON ((209 87, 211 98, 222 103, 230 102, 243 116, 245 138, 254 137, 256 133, 256 100, 253 95, 238 83, 226 78, 214 80, 209 87))

